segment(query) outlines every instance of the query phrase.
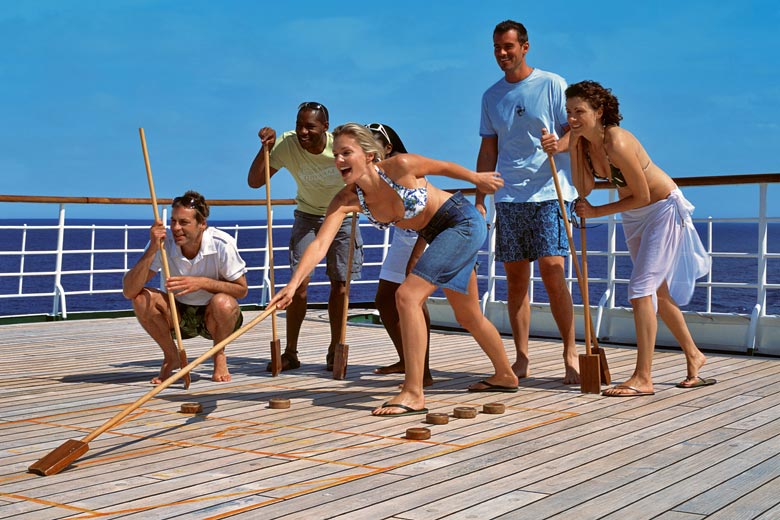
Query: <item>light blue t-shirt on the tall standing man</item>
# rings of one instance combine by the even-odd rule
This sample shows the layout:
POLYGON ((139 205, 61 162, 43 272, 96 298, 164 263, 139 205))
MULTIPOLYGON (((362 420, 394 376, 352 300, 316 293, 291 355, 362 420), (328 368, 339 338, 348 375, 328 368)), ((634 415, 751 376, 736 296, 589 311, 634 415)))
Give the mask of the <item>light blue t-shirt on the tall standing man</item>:
MULTIPOLYGON (((479 135, 498 137, 496 169, 504 179, 504 186, 495 194, 496 202, 558 198, 541 139, 542 128, 560 137, 568 127, 565 90, 562 77, 534 69, 518 83, 501 78, 482 95, 479 135)), ((568 153, 555 155, 564 200, 577 197, 569 163, 568 153)))

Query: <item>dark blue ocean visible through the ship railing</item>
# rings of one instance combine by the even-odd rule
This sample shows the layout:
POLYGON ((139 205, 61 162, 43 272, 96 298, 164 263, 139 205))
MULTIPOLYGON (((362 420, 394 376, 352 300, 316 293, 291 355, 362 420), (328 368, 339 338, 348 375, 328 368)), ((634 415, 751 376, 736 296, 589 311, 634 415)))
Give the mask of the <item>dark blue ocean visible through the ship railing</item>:
MULTIPOLYGON (((56 255, 51 252, 56 247, 56 229, 35 229, 40 226, 53 226, 57 222, 53 219, 0 219, 0 316, 17 314, 47 314, 52 309, 52 297, 7 297, 19 292, 19 277, 13 273, 23 271, 22 290, 24 293, 51 292, 55 283, 53 275, 36 275, 54 271, 56 255), (7 226, 21 226, 26 224, 29 228, 24 235, 21 230, 8 229, 7 226), (22 257, 18 251, 25 241, 26 254, 22 257), (12 252, 17 252, 12 254, 12 252)), ((289 228, 284 227, 292 223, 292 220, 277 219, 274 226, 274 247, 284 247, 289 242, 289 228)), ((260 226, 263 223, 257 221, 210 221, 212 226, 224 229, 234 234, 234 227, 260 226)), ((70 219, 67 226, 75 226, 76 229, 67 229, 64 235, 65 249, 74 251, 63 256, 62 268, 66 271, 78 271, 77 273, 64 275, 61 284, 66 292, 89 291, 90 286, 94 291, 121 289, 122 275, 131 267, 140 256, 138 253, 125 253, 125 249, 142 249, 149 240, 149 221, 127 220, 89 220, 70 219), (101 252, 94 255, 94 264, 90 265, 89 250, 92 249, 92 231, 90 226, 113 226, 115 229, 98 230, 95 233, 96 250, 101 252), (131 229, 128 233, 125 245, 124 226, 131 229), (90 276, 89 270, 97 272, 90 276), (101 272, 104 271, 104 272, 101 272), (116 271, 116 272, 112 272, 116 271)), ((697 229, 702 240, 707 245, 707 237, 704 225, 697 224, 697 229)), ((382 233, 372 227, 361 227, 366 243, 381 243, 382 233)), ((599 302, 606 289, 606 284, 600 282, 600 278, 606 278, 607 259, 596 254, 597 251, 605 251, 607 247, 607 226, 605 224, 589 224, 587 232, 588 244, 588 274, 590 279, 589 296, 591 304, 599 302)), ((579 249, 580 232, 574 230, 575 243, 579 249)), ((617 248, 625 249, 625 242, 618 228, 617 248)), ((770 225, 768 233, 768 249, 770 253, 780 252, 780 225, 770 225)), ((241 229, 238 235, 238 245, 242 250, 258 249, 265 245, 265 230, 241 229)), ((712 312, 750 314, 755 306, 758 295, 755 288, 745 285, 755 284, 758 276, 758 260, 748 258, 746 255, 755 254, 758 246, 758 229, 756 224, 748 223, 715 223, 713 224, 712 250, 717 252, 731 252, 736 255, 713 258, 712 281, 740 284, 737 287, 713 287, 712 288, 712 312)), ((365 261, 367 263, 381 260, 380 249, 366 249, 365 261)), ((244 260, 249 267, 262 266, 263 258, 260 251, 242 252, 244 260)), ((487 257, 479 257, 480 265, 478 274, 487 276, 487 257)), ((275 251, 274 262, 277 267, 289 264, 286 251, 275 251)), ((780 283, 780 260, 770 258, 767 262, 767 282, 780 283)), ((376 280, 380 267, 366 266, 362 273, 363 280, 376 280)), ((496 266, 496 272, 503 275, 500 264, 496 266)), ((631 260, 628 256, 619 256, 616 260, 616 272, 619 278, 628 278, 631 273, 631 260)), ((535 273, 538 275, 538 273, 535 273)), ((261 285, 262 272, 252 270, 247 274, 250 286, 261 285)), ((288 269, 277 269, 275 282, 277 285, 286 283, 289 279, 288 269)), ((704 279, 702 279, 704 280, 704 279)), ((700 281, 702 281, 700 280, 700 281)), ((329 286, 325 276, 324 267, 317 268, 313 282, 325 282, 324 285, 311 285, 309 288, 309 302, 327 301, 329 286)), ((159 280, 155 278, 151 285, 157 286, 159 280)), ((487 281, 480 280, 480 294, 487 288, 487 281)), ((534 283, 534 301, 546 302, 547 295, 541 282, 534 283)), ((373 302, 376 291, 375 283, 357 282, 352 284, 350 299, 353 302, 373 302)), ((442 295, 438 292, 434 295, 442 295)), ((582 300, 576 282, 572 286, 572 295, 575 303, 582 300)), ((626 286, 617 284, 616 305, 630 306, 626 297, 626 286)), ((496 284, 496 298, 506 299, 506 286, 504 283, 496 284)), ((242 304, 259 303, 261 299, 260 289, 251 289, 249 295, 241 301, 242 304)), ((688 311, 706 311, 707 288, 698 287, 689 305, 684 307, 688 311)), ((69 294, 67 297, 68 312, 89 312, 106 310, 129 310, 129 301, 124 299, 121 293, 97 293, 97 294, 69 294)), ((780 313, 780 291, 767 291, 767 314, 780 313)))

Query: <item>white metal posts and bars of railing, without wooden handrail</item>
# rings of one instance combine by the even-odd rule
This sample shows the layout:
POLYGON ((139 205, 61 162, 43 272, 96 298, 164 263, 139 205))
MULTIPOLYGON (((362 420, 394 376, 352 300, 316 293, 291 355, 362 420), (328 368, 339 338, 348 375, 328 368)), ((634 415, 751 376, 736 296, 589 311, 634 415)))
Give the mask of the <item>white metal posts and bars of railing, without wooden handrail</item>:
MULTIPOLYGON (((778 253, 770 253, 768 250, 768 226, 770 224, 776 224, 780 222, 780 218, 772 218, 767 215, 767 187, 768 184, 766 182, 756 182, 760 188, 759 190, 759 197, 756 204, 757 207, 757 215, 755 217, 751 218, 740 218, 740 219, 722 219, 722 218, 707 218, 707 219, 696 219, 695 222, 697 223, 706 223, 706 233, 704 236, 702 236, 702 239, 705 243, 705 246, 707 248, 707 251, 711 255, 713 259, 717 258, 740 258, 740 259, 755 259, 755 261, 758 264, 758 269, 755 273, 755 278, 750 282, 737 282, 737 281, 713 281, 712 278, 712 271, 708 273, 707 277, 700 280, 697 284, 698 287, 703 287, 706 290, 706 304, 705 308, 703 309, 703 313, 712 313, 712 302, 713 302, 713 289, 723 289, 723 288, 735 288, 735 289, 750 289, 755 290, 755 304, 751 306, 751 310, 747 312, 736 312, 737 314, 744 315, 748 318, 752 316, 753 320, 760 320, 762 317, 767 315, 767 292, 768 291, 776 291, 780 289, 780 284, 777 283, 770 283, 767 281, 767 275, 768 275, 768 262, 770 260, 777 260, 780 259, 780 254, 778 253), (751 223, 755 224, 758 228, 758 243, 756 247, 755 252, 728 252, 728 251, 715 251, 713 248, 713 233, 714 228, 713 224, 717 223, 751 223)), ((0 196, 3 197, 3 196, 0 196)), ((6 197, 7 198, 7 197, 6 197)), ((614 190, 611 190, 610 192, 610 199, 614 200, 615 193, 614 190)), ((48 201, 47 201, 48 202, 48 201)), ((221 205, 230 205, 232 201, 221 201, 223 204, 221 205)), ((238 204, 236 201, 236 205, 245 205, 245 204, 238 204)), ((2 203, 2 201, 0 201, 2 203)), ((48 202, 51 204, 51 202, 48 202)), ((138 203, 138 202, 136 202, 138 203)), ((162 202, 161 202, 162 203, 162 202)), ((83 202, 73 202, 73 203, 65 203, 60 202, 58 204, 59 212, 58 212, 58 219, 56 225, 31 225, 31 224, 20 224, 20 225, 3 225, 0 226, 0 232, 8 232, 8 231, 18 231, 19 232, 19 242, 18 247, 12 246, 9 244, 6 244, 3 247, 0 247, 0 259, 2 258, 18 258, 18 269, 3 269, 0 271, 0 316, 2 315, 10 315, 13 313, 9 312, 3 312, 2 310, 2 303, 4 301, 10 301, 10 300, 25 300, 25 299, 31 299, 31 298, 40 298, 40 297, 51 297, 52 298, 52 305, 50 308, 50 314, 53 316, 61 316, 63 318, 67 318, 68 313, 68 298, 76 296, 76 295, 121 295, 121 275, 124 274, 124 272, 127 271, 129 266, 132 262, 135 261, 135 259, 140 256, 140 254, 143 251, 143 245, 146 244, 148 241, 148 228, 149 224, 143 224, 143 225, 118 225, 118 226, 98 226, 98 225, 77 225, 77 224, 70 224, 66 221, 66 206, 69 204, 83 204, 83 202), (98 239, 98 233, 104 230, 121 230, 123 233, 123 240, 122 240, 122 246, 121 247, 114 247, 114 248, 106 248, 101 249, 100 248, 100 240, 98 239), (54 248, 49 248, 46 250, 41 249, 33 249, 30 246, 30 234, 33 232, 40 232, 44 230, 51 230, 56 231, 56 240, 54 248), (73 249, 66 246, 66 238, 67 233, 72 232, 74 230, 88 230, 91 233, 90 238, 90 247, 88 249, 73 249), (138 245, 139 242, 139 235, 142 238, 141 244, 138 245), (135 237, 135 243, 137 245, 133 245, 133 240, 131 240, 131 237, 135 237), (96 265, 96 258, 100 255, 105 254, 118 254, 122 256, 122 263, 118 267, 112 267, 109 269, 105 268, 97 268, 96 265), (68 267, 66 264, 66 260, 70 257, 76 256, 76 255, 88 255, 89 257, 89 266, 87 268, 71 268, 68 267), (55 258, 54 267, 51 269, 32 269, 30 266, 30 263, 33 259, 37 257, 43 257, 43 256, 53 256, 55 258), (85 275, 88 276, 88 284, 85 288, 74 288, 71 286, 71 284, 68 283, 68 279, 70 277, 73 277, 74 275, 85 275), (113 275, 116 277, 118 282, 111 286, 111 287, 96 287, 95 286, 95 278, 98 276, 104 276, 104 275, 113 275), (27 282, 30 279, 40 278, 40 277, 48 277, 52 278, 53 281, 51 285, 46 287, 45 289, 41 289, 40 283, 37 284, 28 284, 27 282), (10 280, 10 283, 5 283, 10 280), (32 285, 37 287, 35 290, 28 289, 28 285, 32 285), (14 286, 15 289, 11 289, 10 287, 14 286)), ((118 204, 117 204, 118 205, 118 204)), ((256 209, 252 210, 252 216, 248 217, 246 220, 256 219, 256 209)), ((492 220, 494 215, 494 212, 492 211, 492 208, 490 210, 490 213, 488 215, 488 220, 492 220)), ((166 211, 163 211, 163 220, 167 221, 167 215, 166 211)), ((597 318, 602 315, 602 311, 613 309, 618 306, 617 300, 616 300, 616 293, 617 288, 626 285, 628 283, 628 279, 624 277, 620 277, 618 275, 618 269, 617 269, 617 262, 621 258, 627 258, 629 256, 628 252, 625 250, 624 246, 618 247, 617 245, 617 235, 620 227, 620 220, 612 215, 606 219, 592 219, 589 221, 590 224, 602 224, 607 226, 607 238, 606 238, 606 248, 604 250, 593 250, 589 248, 588 256, 593 257, 603 257, 606 258, 606 269, 602 274, 597 274, 594 271, 592 271, 589 277, 590 283, 594 287, 603 287, 603 290, 597 291, 592 290, 591 294, 594 295, 594 298, 597 297, 599 294, 601 294, 600 302, 598 304, 598 312, 597 312, 597 318), (594 276, 596 274, 596 276, 594 276)), ((252 273, 255 275, 259 275, 259 279, 257 279, 256 283, 250 283, 249 289, 250 289, 250 295, 254 292, 254 296, 251 296, 255 298, 255 302, 259 304, 265 304, 265 302, 268 301, 268 296, 270 294, 270 288, 269 288, 269 256, 268 256, 268 243, 267 243, 267 226, 265 224, 259 224, 259 225, 247 225, 247 224, 234 224, 234 225, 220 225, 218 226, 221 229, 231 233, 233 236, 236 237, 236 240, 239 244, 239 251, 241 252, 242 256, 251 256, 251 255, 261 255, 262 258, 258 260, 257 262, 248 262, 247 268, 248 268, 248 280, 249 279, 255 279, 257 277, 251 276, 252 273), (264 238, 262 240, 256 241, 256 243, 252 243, 248 238, 245 238, 245 235, 251 235, 252 233, 262 233, 264 235, 264 238)), ((276 238, 276 233, 291 228, 290 224, 274 224, 274 235, 276 238)), ((361 229, 370 228, 368 224, 361 224, 361 229)), ((480 253, 480 260, 483 258, 487 259, 486 266, 480 269, 480 290, 482 291, 483 297, 482 297, 482 304, 483 308, 488 302, 495 302, 496 301, 496 294, 497 294, 497 288, 501 287, 503 284, 504 290, 505 290, 505 284, 506 284, 506 277, 499 272, 497 272, 497 265, 495 263, 495 255, 494 255, 494 227, 491 226, 491 232, 489 234, 489 241, 488 241, 488 248, 485 251, 482 251, 480 253)), ((378 232, 374 232, 374 236, 376 237, 378 235, 378 232)), ((378 267, 381 266, 382 261, 384 260, 387 249, 389 247, 389 231, 385 231, 381 234, 381 239, 376 240, 375 242, 371 243, 369 241, 366 241, 365 243, 365 249, 378 249, 379 254, 375 255, 376 259, 373 261, 366 261, 364 263, 364 268, 376 268, 378 272, 378 267)), ((366 234, 364 233, 364 239, 366 238, 366 234)), ((278 243, 277 240, 275 240, 275 244, 278 243)), ((590 244, 592 246, 592 243, 590 244)), ((274 246, 274 252, 275 253, 283 253, 287 251, 287 244, 281 244, 281 245, 275 245, 274 246)), ((275 259, 278 259, 280 256, 283 255, 275 255, 275 259)), ((7 264, 7 262, 6 262, 7 264)), ((285 281, 289 277, 289 271, 290 266, 289 262, 286 261, 282 264, 275 263, 275 278, 276 278, 276 285, 277 287, 281 287, 284 285, 285 281), (287 273, 285 276, 278 276, 278 273, 287 273), (281 279, 280 279, 281 278, 281 279)), ((319 271, 319 270, 318 270, 319 271)), ((568 277, 568 283, 570 285, 570 288, 573 287, 573 283, 576 281, 576 278, 573 276, 573 269, 571 262, 568 262, 567 267, 567 277, 568 277)), ((536 301, 536 298, 534 298, 534 284, 537 282, 540 282, 541 279, 538 276, 538 273, 536 272, 536 269, 532 269, 532 284, 531 284, 531 300, 534 303, 538 303, 536 301)), ((363 278, 361 280, 356 280, 354 284, 374 284, 376 283, 376 278, 366 279, 363 278)), ((312 280, 311 286, 326 286, 329 285, 329 281, 323 276, 312 280)), ((317 301, 317 300, 313 300, 317 301)), ((542 303, 544 304, 544 303, 542 303)), ((129 309, 129 303, 127 308, 129 309)), ((26 314, 25 312, 21 312, 18 314, 26 314)), ((600 320, 597 322, 600 324, 600 320)), ((597 328, 598 328, 597 324, 597 328)))

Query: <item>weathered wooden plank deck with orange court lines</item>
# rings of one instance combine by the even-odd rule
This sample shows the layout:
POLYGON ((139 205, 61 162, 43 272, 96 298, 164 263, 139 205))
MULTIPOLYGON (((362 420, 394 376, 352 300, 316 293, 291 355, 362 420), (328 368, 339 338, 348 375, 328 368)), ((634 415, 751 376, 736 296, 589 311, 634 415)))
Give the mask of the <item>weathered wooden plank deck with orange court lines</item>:
MULTIPOLYGON (((27 467, 146 393, 160 352, 133 318, 0 327, 0 518, 780 518, 780 359, 710 354, 703 375, 718 384, 684 390, 682 353, 659 351, 656 395, 617 399, 563 385, 559 343, 534 341, 520 392, 470 394, 487 358, 437 332, 431 411, 507 411, 410 441, 424 416, 369 413, 401 381, 372 373, 395 356, 384 330, 350 325, 347 379, 334 381, 323 312, 304 324, 301 369, 265 372, 266 320, 228 347, 232 382, 201 366, 189 391, 163 391, 48 477, 27 467), (202 414, 179 413, 192 401, 202 414)), ((208 346, 186 342, 190 359, 208 346)), ((635 350, 604 346, 622 381, 635 350)))

